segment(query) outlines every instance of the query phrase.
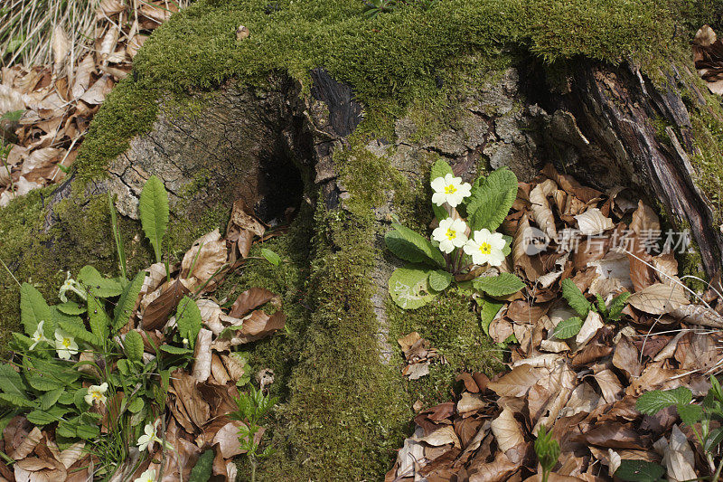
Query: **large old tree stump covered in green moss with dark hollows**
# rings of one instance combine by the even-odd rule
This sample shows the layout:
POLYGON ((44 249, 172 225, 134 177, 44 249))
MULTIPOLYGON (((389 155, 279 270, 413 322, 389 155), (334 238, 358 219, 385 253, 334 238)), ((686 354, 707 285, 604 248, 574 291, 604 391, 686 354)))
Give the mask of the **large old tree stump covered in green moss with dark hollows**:
MULTIPOLYGON (((294 208, 291 233, 272 241, 291 262, 281 271, 251 266, 220 291, 233 293, 234 283, 285 290, 291 315, 291 335, 252 347, 254 364, 277 372, 273 390, 282 397, 271 430, 279 451, 262 467, 261 476, 380 479, 409 429, 412 402, 444 401, 455 371, 491 371, 495 364, 493 346, 468 299, 450 293, 428 307, 402 312, 387 294, 387 280, 399 260, 384 250, 383 235, 392 214, 420 232, 427 229, 427 176, 437 158, 446 159, 466 181, 502 165, 528 181, 552 162, 603 191, 615 185, 632 187, 649 201, 658 201, 671 225, 690 228, 700 258, 693 260, 689 272, 712 276, 720 266, 721 219, 710 203, 718 184, 701 161, 720 152, 716 129, 723 127, 723 116, 718 99, 701 89, 687 67, 690 61, 666 61, 669 69, 645 71, 631 62, 614 66, 580 57, 550 66, 517 47, 490 61, 480 49, 486 42, 500 42, 502 33, 494 31, 494 41, 475 37, 482 34, 473 26, 487 22, 482 9, 502 15, 506 8, 473 2, 464 6, 470 18, 463 19, 457 7, 463 8, 443 2, 437 13, 402 13, 371 24, 401 29, 380 33, 390 40, 388 47, 399 61, 415 39, 421 49, 439 45, 434 38, 418 38, 418 33, 404 30, 410 22, 437 25, 444 41, 438 48, 446 49, 456 62, 443 61, 438 52, 420 54, 421 59, 412 56, 408 71, 393 66, 396 70, 377 72, 379 81, 388 84, 372 94, 365 79, 383 65, 384 52, 372 52, 366 59, 352 56, 348 75, 339 74, 336 55, 351 52, 348 39, 338 52, 324 47, 331 49, 327 62, 319 61, 323 55, 300 63, 280 55, 273 58, 279 65, 256 59, 258 63, 233 64, 219 73, 214 64, 209 66, 213 75, 203 71, 195 76, 189 70, 186 77, 178 66, 204 64, 199 49, 209 49, 214 61, 226 59, 217 43, 233 49, 230 35, 240 21, 249 25, 254 39, 257 28, 266 28, 262 22, 274 15, 281 22, 287 14, 286 7, 266 14, 245 2, 194 5, 146 43, 135 74, 101 109, 70 179, 0 212, 5 262, 17 278, 32 279, 49 297, 55 296, 65 269, 88 263, 114 272, 114 247, 108 242, 109 192, 117 195, 133 268, 146 266, 148 246, 134 220, 137 195, 150 175, 162 178, 171 194, 174 250, 184 250, 198 235, 225 226, 230 206, 239 197, 266 222, 284 222, 287 208, 294 208), (468 27, 472 40, 452 39, 453 27, 468 27), (187 48, 165 45, 174 35, 190 35, 196 43, 187 48), (183 87, 180 96, 168 82, 162 82, 162 88, 156 85, 164 77, 164 64, 151 56, 164 48, 169 72, 183 87), (365 61, 370 71, 364 71, 365 61), (284 62, 286 69, 281 69, 284 62), (258 69, 254 80, 243 79, 244 69, 251 67, 258 69), (397 80, 418 89, 398 85, 397 80), (399 91, 403 99, 395 93, 399 91), (449 361, 415 383, 399 373, 402 362, 396 344, 397 337, 412 330, 427 337, 449 361)), ((324 10, 328 17, 315 17, 315 10, 298 10, 296 15, 307 23, 342 18, 355 29, 371 28, 355 20, 359 8, 351 2, 323 8, 331 9, 324 10)), ((533 15, 540 18, 526 18, 521 25, 543 17, 553 25, 562 21, 545 12, 533 15)), ((615 12, 610 15, 627 32, 619 25, 624 21, 615 12)), ((516 24, 508 17, 497 21, 512 29, 516 24)), ((308 27, 299 23, 302 30, 308 27)), ((273 30, 273 24, 268 28, 273 30)), ((322 39, 328 33, 324 28, 317 32, 322 39)), ((517 33, 505 32, 508 42, 519 41, 517 33)), ((343 38, 354 34, 344 31, 343 38)), ((375 39, 375 33, 361 34, 375 39)), ((647 34, 653 39, 664 36, 657 31, 647 34)), ((540 39, 545 37, 534 38, 532 50, 540 52, 540 39)), ((602 34, 592 38, 598 42, 592 43, 596 48, 607 45, 602 34)), ((255 45, 263 52, 276 42, 262 35, 255 45)), ((318 45, 309 42, 310 51, 316 52, 318 45)), ((635 48, 650 52, 643 47, 643 41, 624 44, 624 53, 635 48)), ((556 45, 545 48, 565 50, 556 45)), ((246 52, 250 47, 238 49, 246 52)), ((605 58, 597 51, 574 49, 561 55, 585 54, 605 58)), ((230 51, 227 60, 239 61, 235 55, 230 51)), ((0 307, 6 325, 12 326, 17 319, 16 289, 3 276, 8 289, 0 307)))

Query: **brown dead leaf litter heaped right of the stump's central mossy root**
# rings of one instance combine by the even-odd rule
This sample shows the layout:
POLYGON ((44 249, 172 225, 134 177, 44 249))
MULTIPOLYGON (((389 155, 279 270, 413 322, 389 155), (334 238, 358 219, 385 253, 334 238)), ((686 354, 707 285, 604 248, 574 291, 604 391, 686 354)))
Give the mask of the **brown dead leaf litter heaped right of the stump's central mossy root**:
MULTIPOLYGON (((416 429, 388 482, 541 480, 533 445, 542 426, 561 449, 549 480, 613 480, 624 459, 661 464, 671 480, 709 473, 674 410, 643 415, 635 402, 659 389, 708 392, 709 375, 723 364, 723 299, 715 289, 700 297, 683 287, 676 260, 653 240, 661 230, 654 210, 623 194, 582 186, 552 165, 520 183, 502 230, 515 235, 508 269, 527 287, 497 313, 480 309, 495 342, 514 342, 509 370, 492 380, 459 373, 452 401, 415 403, 416 429), (579 245, 568 239, 574 230, 584 234, 579 245), (575 307, 562 298, 567 280, 582 293, 575 307), (621 293, 630 296, 613 319, 621 293), (591 308, 597 297, 602 314, 591 308), (572 336, 555 336, 586 309, 572 336)), ((405 370, 422 336, 399 339, 405 370)))

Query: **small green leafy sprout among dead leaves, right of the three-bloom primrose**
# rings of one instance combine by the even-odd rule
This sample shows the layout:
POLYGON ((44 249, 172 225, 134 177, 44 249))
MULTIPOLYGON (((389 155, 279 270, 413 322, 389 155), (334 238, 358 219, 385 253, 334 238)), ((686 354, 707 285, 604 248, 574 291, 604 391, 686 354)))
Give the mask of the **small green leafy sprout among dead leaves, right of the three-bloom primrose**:
POLYGON ((563 279, 561 285, 562 297, 568 301, 568 305, 577 312, 579 317, 569 317, 559 322, 558 326, 555 326, 555 337, 560 340, 576 336, 590 311, 598 313, 606 322, 619 320, 623 315, 627 298, 630 298, 630 293, 624 291, 612 298, 609 304, 606 304, 605 299, 598 294, 596 295, 596 302, 590 303, 572 279, 563 279))

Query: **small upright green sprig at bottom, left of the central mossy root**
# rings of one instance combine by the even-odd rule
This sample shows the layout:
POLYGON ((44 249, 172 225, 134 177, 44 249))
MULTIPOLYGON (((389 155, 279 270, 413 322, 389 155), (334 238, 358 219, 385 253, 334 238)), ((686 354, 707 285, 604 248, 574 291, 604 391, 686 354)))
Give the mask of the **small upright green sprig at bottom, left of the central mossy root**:
POLYGON ((268 412, 274 408, 277 402, 277 397, 265 395, 261 389, 257 390, 253 385, 250 385, 249 392, 240 393, 236 399, 238 410, 230 414, 231 420, 244 422, 239 429, 239 441, 241 442, 241 449, 246 450, 246 457, 249 458, 251 482, 256 480, 258 460, 267 458, 274 453, 271 446, 259 452, 256 435, 261 430, 258 423, 267 417, 268 412))

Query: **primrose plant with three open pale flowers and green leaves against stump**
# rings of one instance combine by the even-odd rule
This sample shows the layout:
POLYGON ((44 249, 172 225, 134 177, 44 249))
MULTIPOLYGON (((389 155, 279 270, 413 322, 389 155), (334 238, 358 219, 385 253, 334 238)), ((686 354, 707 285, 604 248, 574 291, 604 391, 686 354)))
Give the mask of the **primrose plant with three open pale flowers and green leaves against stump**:
POLYGON ((517 196, 517 177, 512 171, 497 169, 470 185, 455 177, 440 159, 432 165, 430 180, 432 210, 439 224, 431 240, 399 222, 392 223, 393 231, 385 236, 387 248, 410 263, 390 277, 394 302, 404 309, 422 307, 452 284, 474 288, 488 297, 504 297, 524 288, 515 275, 489 270, 500 266, 511 251, 512 238, 494 231, 517 196))

